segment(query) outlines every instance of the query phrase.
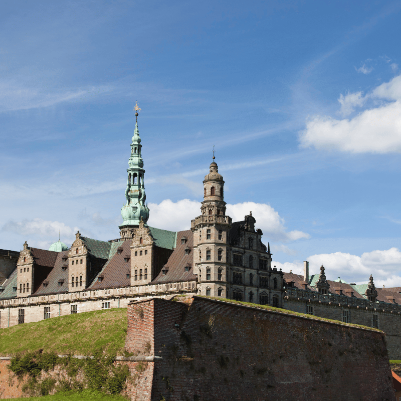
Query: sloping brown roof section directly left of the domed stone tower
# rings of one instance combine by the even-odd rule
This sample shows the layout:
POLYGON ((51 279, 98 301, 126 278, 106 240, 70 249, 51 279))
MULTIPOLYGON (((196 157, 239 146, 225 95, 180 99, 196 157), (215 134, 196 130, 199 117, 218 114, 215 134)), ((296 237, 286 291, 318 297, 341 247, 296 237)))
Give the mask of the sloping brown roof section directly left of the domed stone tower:
MULTIPOLYGON (((155 277, 152 284, 189 281, 195 280, 196 275, 193 274, 193 234, 191 230, 178 231, 176 234, 175 249, 168 258, 165 267, 168 268, 165 275, 162 271, 155 277), (185 244, 181 244, 181 238, 186 237, 185 244), (185 248, 189 249, 188 255, 185 255, 185 248), (185 272, 185 266, 190 264, 189 271, 185 272)), ((164 267, 162 268, 162 270, 164 267)))

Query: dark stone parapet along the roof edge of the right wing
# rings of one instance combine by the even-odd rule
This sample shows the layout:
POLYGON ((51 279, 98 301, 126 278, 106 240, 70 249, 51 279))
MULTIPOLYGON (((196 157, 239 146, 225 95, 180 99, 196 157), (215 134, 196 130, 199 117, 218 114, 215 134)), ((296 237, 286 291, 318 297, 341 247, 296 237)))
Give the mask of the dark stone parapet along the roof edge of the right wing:
POLYGON ((401 314, 401 305, 386 302, 371 302, 367 299, 347 297, 345 295, 324 295, 318 292, 301 290, 299 288, 286 288, 284 298, 288 300, 318 302, 319 304, 354 307, 375 312, 388 312, 401 314))

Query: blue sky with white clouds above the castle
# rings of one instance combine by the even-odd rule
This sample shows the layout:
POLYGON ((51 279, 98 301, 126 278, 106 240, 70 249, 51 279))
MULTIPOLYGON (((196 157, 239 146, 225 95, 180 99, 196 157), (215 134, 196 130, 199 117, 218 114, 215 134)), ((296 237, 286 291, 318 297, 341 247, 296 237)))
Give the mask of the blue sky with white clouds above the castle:
POLYGON ((118 238, 132 108, 149 224, 228 214, 285 271, 401 286, 400 2, 0 5, 0 248, 118 238))

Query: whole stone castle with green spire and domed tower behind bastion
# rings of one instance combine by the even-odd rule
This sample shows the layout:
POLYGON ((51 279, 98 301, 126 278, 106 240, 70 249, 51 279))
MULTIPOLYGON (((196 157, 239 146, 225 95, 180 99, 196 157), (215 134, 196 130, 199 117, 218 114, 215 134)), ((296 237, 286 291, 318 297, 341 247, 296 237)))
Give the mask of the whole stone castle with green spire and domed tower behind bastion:
POLYGON ((146 297, 210 295, 377 327, 386 333, 390 358, 401 359, 401 288, 375 288, 372 276, 364 285, 330 281, 323 266, 309 275, 308 262, 303 276, 277 270, 257 216, 233 222, 226 215, 214 160, 190 228, 189 222, 179 232, 149 227, 141 149, 136 121, 120 238, 99 241, 77 232, 71 247, 59 241, 49 250, 26 242, 21 252, 0 249, 0 328, 127 307, 146 297))

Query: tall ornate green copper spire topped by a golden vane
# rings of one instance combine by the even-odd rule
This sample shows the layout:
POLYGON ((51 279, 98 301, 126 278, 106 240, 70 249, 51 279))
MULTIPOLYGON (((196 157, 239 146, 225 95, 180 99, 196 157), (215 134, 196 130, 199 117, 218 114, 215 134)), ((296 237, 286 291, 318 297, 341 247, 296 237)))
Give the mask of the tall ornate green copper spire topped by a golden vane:
POLYGON ((133 229, 139 226, 139 222, 143 220, 146 225, 149 219, 149 209, 145 205, 146 194, 143 183, 145 170, 143 169, 142 145, 138 130, 138 111, 141 109, 138 107, 138 102, 136 102, 134 110, 136 122, 131 143, 131 156, 128 159, 126 203, 121 208, 121 216, 124 220, 122 225, 119 226, 121 238, 131 238, 133 229))

